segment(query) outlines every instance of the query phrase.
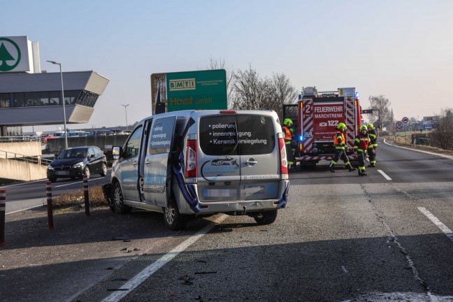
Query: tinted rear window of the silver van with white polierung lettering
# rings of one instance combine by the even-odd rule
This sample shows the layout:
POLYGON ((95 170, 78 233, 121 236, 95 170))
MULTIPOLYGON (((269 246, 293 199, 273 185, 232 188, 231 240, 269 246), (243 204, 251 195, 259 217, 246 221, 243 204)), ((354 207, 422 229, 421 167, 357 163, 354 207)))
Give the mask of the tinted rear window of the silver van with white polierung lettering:
POLYGON ((271 153, 275 147, 273 120, 264 115, 201 117, 200 146, 208 155, 271 153))

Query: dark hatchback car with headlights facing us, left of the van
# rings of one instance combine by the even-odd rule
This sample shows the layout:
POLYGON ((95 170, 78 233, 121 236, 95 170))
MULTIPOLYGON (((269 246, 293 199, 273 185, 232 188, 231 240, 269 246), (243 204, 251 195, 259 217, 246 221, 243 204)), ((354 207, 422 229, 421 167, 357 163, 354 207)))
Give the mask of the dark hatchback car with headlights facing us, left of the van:
POLYGON ((107 175, 107 159, 96 146, 68 148, 59 152, 48 165, 47 177, 51 182, 57 178, 82 178, 99 173, 107 175))

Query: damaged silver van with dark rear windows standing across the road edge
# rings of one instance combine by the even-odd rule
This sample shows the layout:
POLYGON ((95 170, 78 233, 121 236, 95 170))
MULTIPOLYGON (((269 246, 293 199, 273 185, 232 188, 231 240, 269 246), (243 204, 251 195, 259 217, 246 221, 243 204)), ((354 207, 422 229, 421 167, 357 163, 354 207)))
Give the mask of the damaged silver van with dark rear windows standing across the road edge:
POLYGON ((287 157, 272 110, 181 110, 138 122, 114 147, 110 208, 164 213, 168 229, 189 217, 249 215, 271 224, 289 192, 287 157))

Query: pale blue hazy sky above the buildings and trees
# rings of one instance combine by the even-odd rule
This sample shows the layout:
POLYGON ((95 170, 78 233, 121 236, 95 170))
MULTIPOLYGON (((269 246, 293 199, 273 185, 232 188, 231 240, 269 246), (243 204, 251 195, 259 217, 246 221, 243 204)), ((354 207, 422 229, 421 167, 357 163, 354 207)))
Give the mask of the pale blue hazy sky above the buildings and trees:
MULTIPOLYGON (((384 95, 396 119, 453 107, 452 0, 3 0, 0 36, 38 41, 41 68, 110 79, 82 127, 151 115, 152 73, 251 64, 296 89, 356 87, 362 107, 384 95)), ((60 125, 61 126, 61 125, 60 125)), ((41 127, 44 131, 55 127, 41 127)), ((35 131, 40 130, 35 127, 35 131)), ((27 131, 27 129, 25 129, 27 131)))

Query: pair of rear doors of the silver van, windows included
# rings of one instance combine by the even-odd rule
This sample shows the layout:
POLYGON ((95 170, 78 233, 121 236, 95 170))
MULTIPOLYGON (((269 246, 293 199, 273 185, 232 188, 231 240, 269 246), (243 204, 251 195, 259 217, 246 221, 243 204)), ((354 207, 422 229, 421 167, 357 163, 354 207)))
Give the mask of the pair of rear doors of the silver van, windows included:
POLYGON ((277 198, 280 157, 272 115, 201 117, 199 141, 201 201, 277 198))

